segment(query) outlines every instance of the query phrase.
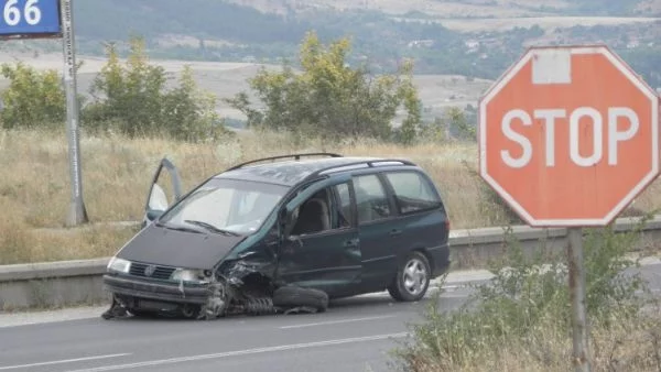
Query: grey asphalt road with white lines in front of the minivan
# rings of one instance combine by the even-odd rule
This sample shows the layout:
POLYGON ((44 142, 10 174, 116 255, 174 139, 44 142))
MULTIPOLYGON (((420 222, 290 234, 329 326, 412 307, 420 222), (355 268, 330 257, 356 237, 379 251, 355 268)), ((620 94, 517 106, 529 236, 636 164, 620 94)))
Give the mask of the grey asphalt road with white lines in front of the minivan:
MULTIPOLYGON (((658 293, 661 263, 641 269, 658 293)), ((441 297, 456 308, 484 272, 454 275, 441 297)), ((105 308, 63 319, 58 313, 11 322, 0 316, 1 371, 387 371, 389 352, 430 299, 393 303, 387 293, 332 303, 324 314, 199 321, 102 320, 105 308)), ((14 319, 15 320, 15 319, 14 319)))

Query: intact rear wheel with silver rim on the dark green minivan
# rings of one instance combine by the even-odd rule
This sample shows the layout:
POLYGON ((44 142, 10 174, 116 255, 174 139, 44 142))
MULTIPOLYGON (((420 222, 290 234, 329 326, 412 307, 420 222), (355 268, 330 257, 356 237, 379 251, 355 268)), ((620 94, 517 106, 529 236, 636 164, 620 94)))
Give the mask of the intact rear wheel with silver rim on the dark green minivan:
POLYGON ((430 261, 421 252, 411 252, 397 270, 388 287, 390 296, 399 302, 415 302, 424 297, 431 282, 430 261))

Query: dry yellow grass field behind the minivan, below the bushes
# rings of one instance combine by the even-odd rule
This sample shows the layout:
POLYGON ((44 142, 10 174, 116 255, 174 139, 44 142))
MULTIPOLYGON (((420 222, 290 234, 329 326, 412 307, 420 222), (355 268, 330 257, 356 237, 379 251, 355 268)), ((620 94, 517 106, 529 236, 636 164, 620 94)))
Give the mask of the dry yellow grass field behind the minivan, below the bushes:
MULTIPOLYGON (((502 210, 488 199, 474 173, 474 144, 403 147, 369 140, 327 144, 316 139, 294 143, 284 134, 252 132, 204 144, 86 133, 80 141, 83 193, 90 222, 141 220, 151 177, 163 156, 177 165, 184 189, 189 189, 210 174, 243 160, 332 151, 418 162, 437 183, 454 229, 507 223, 502 210)), ((105 256, 133 233, 131 229, 102 226, 64 232, 36 230, 64 227, 71 193, 67 156, 64 132, 0 131, 0 208, 4 211, 0 215, 0 264, 105 256)), ((636 203, 643 210, 659 206, 658 184, 636 203)))

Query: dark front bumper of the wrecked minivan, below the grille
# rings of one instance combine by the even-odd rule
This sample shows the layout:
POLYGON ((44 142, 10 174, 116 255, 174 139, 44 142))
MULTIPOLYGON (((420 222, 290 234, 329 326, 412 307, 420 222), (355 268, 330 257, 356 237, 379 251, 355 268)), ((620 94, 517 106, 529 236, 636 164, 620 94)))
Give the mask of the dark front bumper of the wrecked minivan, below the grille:
POLYGON ((104 286, 113 295, 177 304, 203 305, 208 297, 204 285, 180 286, 112 274, 104 275, 104 286))

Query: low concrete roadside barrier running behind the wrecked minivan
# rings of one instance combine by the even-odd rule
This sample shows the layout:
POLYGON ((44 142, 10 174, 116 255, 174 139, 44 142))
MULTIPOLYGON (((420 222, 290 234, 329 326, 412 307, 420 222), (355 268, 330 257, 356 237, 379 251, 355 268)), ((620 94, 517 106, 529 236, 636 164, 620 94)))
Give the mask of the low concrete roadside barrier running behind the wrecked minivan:
MULTIPOLYGON (((621 218, 616 231, 630 231, 638 218, 621 218)), ((566 229, 511 228, 524 252, 541 248, 564 250, 566 229)), ((661 238, 661 216, 647 221, 633 250, 655 248, 661 238)), ((455 230, 451 233, 452 270, 483 267, 488 259, 501 255, 508 239, 503 228, 455 230)), ((59 307, 98 304, 109 300, 102 289, 101 275, 109 258, 59 262, 41 262, 0 266, 0 311, 28 307, 59 307)))

